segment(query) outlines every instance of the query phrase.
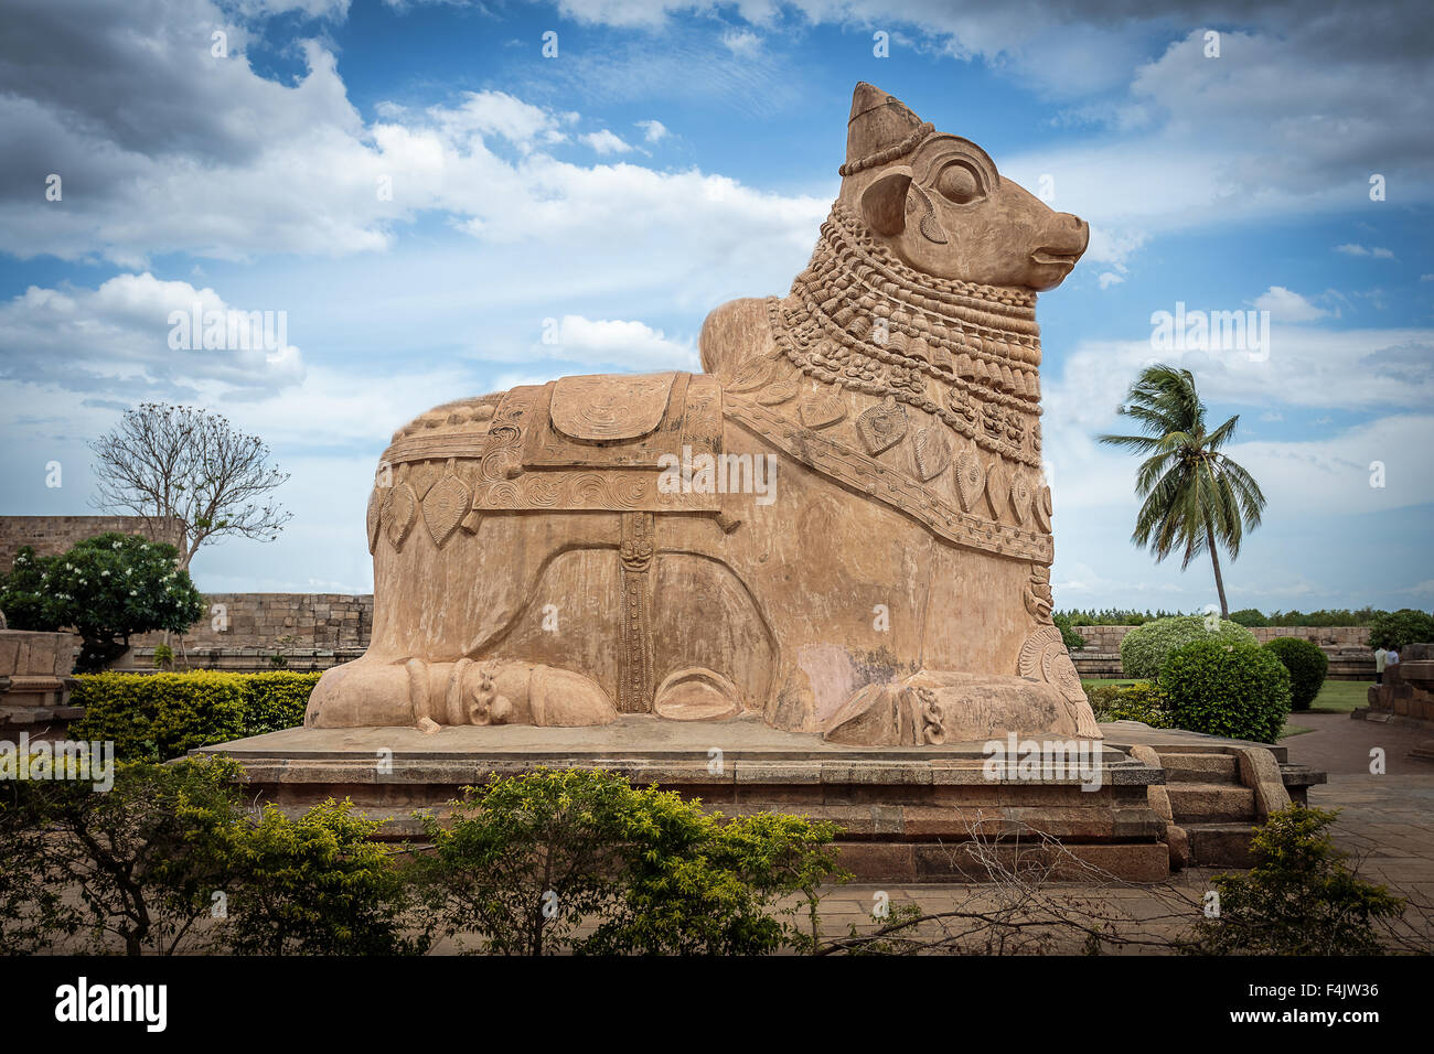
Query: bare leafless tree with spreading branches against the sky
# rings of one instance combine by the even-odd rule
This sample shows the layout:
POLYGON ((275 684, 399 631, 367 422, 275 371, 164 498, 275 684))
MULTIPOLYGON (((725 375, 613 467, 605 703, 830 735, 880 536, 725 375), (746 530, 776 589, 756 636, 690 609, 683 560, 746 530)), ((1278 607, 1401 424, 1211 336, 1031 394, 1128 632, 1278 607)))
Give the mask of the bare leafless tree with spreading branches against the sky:
POLYGON ((268 446, 211 410, 142 403, 90 450, 95 503, 145 518, 151 538, 178 546, 181 568, 211 538, 270 542, 293 518, 272 499, 288 473, 268 463, 268 446))

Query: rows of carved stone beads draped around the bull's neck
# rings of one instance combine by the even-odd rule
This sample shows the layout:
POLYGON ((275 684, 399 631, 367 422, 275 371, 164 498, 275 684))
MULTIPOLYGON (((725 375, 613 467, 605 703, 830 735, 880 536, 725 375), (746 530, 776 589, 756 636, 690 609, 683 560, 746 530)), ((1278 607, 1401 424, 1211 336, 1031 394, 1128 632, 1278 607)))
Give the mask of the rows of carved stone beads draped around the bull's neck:
POLYGON ((1040 467, 1034 293, 921 274, 837 201, 812 262, 767 308, 777 346, 803 374, 895 397, 1040 467))

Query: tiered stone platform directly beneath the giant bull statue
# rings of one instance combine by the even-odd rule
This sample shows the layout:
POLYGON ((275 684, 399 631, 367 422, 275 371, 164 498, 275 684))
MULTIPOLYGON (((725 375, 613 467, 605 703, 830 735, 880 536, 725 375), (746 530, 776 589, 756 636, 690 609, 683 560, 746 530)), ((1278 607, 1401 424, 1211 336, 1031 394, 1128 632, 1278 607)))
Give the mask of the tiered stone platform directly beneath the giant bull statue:
MULTIPOLYGON (((981 878, 968 855, 974 837, 995 837, 1014 855, 1018 846, 1034 850, 1040 835, 1119 878, 1163 879, 1170 872, 1172 817, 1162 815, 1166 799, 1152 787, 1163 787, 1166 771, 1150 763, 1156 756, 1139 757, 1136 741, 1153 737, 1183 753, 1258 744, 1156 733, 1133 723, 1107 727, 1111 739, 1100 749, 1100 786, 1093 790, 1083 790, 1076 774, 989 779, 981 743, 852 747, 777 731, 760 718, 681 723, 625 716, 595 728, 469 726, 432 734, 287 728, 194 753, 237 760, 255 799, 285 812, 350 797, 360 812, 384 820, 383 833, 391 839, 417 837, 414 810, 442 813, 463 786, 493 773, 581 767, 621 771, 634 784, 655 783, 727 816, 771 810, 829 820, 843 830, 843 866, 863 882, 981 878)), ((1278 767, 1282 749, 1273 750, 1281 756, 1271 764, 1278 767)))

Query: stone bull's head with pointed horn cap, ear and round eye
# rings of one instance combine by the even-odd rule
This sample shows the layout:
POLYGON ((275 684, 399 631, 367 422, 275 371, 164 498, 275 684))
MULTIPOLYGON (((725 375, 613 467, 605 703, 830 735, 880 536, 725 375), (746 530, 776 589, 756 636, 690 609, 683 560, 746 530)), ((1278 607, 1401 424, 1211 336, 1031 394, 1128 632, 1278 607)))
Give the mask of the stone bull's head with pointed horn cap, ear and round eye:
POLYGON ((936 132, 866 82, 852 98, 842 176, 847 206, 923 274, 1051 290, 1090 241, 1086 221, 1002 179, 974 142, 936 132))

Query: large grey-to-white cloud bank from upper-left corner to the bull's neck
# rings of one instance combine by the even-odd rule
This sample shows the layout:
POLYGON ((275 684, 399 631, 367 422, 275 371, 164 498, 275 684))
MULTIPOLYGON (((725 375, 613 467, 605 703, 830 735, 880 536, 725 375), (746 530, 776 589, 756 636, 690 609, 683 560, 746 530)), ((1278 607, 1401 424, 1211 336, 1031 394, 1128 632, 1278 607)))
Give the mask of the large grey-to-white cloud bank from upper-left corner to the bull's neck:
MULTIPOLYGON (((244 56, 242 29, 231 34, 231 57, 214 60, 184 26, 218 22, 218 9, 175 1, 172 17, 125 9, 89 27, 105 47, 75 59, 85 90, 53 75, 43 40, 33 56, 0 50, 0 166, 46 156, 67 178, 62 202, 0 196, 0 250, 100 254, 130 270, 176 251, 344 257, 389 250, 400 224, 437 212, 489 242, 571 258, 601 250, 611 272, 641 261, 654 281, 674 272, 652 274, 652 261, 678 247, 693 272, 763 272, 789 257, 794 272, 830 204, 695 169, 559 162, 551 151, 578 115, 506 92, 422 109, 380 105, 366 125, 320 44, 304 44, 304 76, 265 80, 244 56), (139 52, 142 75, 126 65, 139 52), (135 125, 133 113, 146 119, 135 125)), ((608 155, 632 149, 607 129, 585 142, 608 155)), ((26 169, 13 182, 30 178, 26 169)))

